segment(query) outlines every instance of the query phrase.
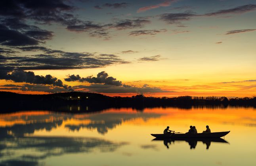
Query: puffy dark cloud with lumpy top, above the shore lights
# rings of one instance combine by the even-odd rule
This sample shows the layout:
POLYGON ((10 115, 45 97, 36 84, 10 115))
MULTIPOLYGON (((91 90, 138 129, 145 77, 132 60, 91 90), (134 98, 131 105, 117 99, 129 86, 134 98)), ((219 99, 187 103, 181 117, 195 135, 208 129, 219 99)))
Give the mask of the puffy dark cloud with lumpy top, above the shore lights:
POLYGON ((97 74, 97 77, 80 77, 79 75, 69 75, 68 78, 65 78, 65 81, 79 81, 79 82, 88 82, 88 83, 97 83, 104 85, 115 85, 115 86, 121 86, 122 81, 117 81, 114 77, 109 77, 109 75, 106 72, 99 72, 97 74))

